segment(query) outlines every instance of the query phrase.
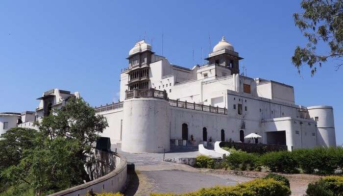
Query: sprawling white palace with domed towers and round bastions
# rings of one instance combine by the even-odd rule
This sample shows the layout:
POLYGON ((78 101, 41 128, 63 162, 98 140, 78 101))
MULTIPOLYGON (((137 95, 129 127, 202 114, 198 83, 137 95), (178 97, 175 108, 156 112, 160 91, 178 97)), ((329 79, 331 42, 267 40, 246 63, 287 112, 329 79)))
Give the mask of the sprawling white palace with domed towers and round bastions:
MULTIPOLYGON (((180 140, 196 145, 248 142, 244 137, 250 133, 262 136, 254 143, 287 145, 288 150, 336 146, 331 106, 296 105, 292 86, 240 75, 243 58, 224 37, 209 53, 208 63, 192 69, 172 65, 144 40, 127 59, 119 102, 96 107, 109 124, 102 136, 123 151, 169 151, 171 143, 180 140)), ((61 107, 70 96, 79 95, 45 92, 35 119, 61 107)), ((13 114, 1 115, 0 126, 13 114)))

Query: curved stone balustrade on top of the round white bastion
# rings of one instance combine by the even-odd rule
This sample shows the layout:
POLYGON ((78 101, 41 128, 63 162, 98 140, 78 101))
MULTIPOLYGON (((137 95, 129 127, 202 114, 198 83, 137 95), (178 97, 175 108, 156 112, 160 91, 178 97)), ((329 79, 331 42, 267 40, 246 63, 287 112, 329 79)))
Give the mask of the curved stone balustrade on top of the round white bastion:
POLYGON ((125 99, 129 98, 161 98, 168 99, 166 91, 159 91, 155 89, 134 89, 125 92, 125 99))

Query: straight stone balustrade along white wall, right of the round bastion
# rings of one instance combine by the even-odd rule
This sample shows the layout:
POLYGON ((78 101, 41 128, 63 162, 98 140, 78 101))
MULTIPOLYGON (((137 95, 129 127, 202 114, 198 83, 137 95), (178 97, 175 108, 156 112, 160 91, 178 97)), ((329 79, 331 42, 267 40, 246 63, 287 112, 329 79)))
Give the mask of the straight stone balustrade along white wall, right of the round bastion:
POLYGON ((180 107, 180 108, 186 108, 186 109, 191 109, 191 110, 211 112, 211 113, 216 113, 216 114, 227 114, 226 108, 213 107, 210 105, 201 105, 197 103, 189 103, 187 101, 179 101, 179 100, 170 99, 169 104, 172 107, 180 107))

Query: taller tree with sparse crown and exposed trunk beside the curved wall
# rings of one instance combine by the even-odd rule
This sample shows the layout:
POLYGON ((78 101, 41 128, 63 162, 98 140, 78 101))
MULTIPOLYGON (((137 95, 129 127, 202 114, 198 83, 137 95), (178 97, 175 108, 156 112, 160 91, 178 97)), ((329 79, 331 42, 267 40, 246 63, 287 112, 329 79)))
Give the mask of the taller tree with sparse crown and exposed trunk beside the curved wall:
POLYGON ((97 161, 94 159, 94 144, 98 136, 108 126, 106 118, 95 114, 94 108, 90 107, 82 98, 70 98, 62 109, 55 109, 42 122, 37 122, 39 130, 45 133, 50 140, 55 137, 63 137, 66 140, 77 140, 79 150, 75 153, 72 164, 75 171, 80 171, 80 177, 86 182, 93 180, 87 174, 84 166, 90 170, 97 161))

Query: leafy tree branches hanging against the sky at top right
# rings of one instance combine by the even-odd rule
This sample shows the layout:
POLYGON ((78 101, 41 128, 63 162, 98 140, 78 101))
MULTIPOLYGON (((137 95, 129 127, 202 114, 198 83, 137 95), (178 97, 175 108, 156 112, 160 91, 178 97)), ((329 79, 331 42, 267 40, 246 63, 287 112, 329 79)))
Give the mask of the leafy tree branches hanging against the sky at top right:
POLYGON ((308 39, 306 47, 297 46, 292 62, 300 73, 302 65, 307 64, 313 76, 317 67, 329 58, 340 61, 337 70, 343 65, 343 0, 302 0, 303 13, 294 13, 295 25, 308 39), (317 52, 319 42, 327 44, 329 51, 317 52))

